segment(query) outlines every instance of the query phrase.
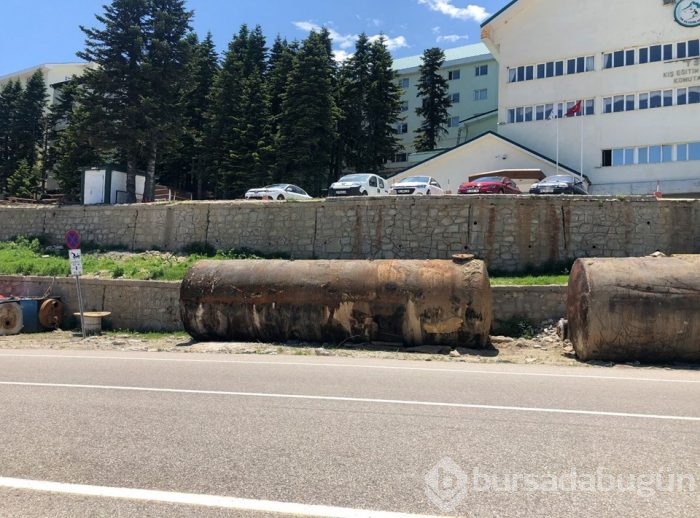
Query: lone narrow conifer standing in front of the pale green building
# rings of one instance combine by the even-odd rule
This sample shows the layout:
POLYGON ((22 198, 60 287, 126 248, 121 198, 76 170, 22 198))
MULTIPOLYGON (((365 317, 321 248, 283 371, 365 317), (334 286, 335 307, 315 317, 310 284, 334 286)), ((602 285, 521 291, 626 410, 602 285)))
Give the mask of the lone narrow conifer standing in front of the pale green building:
POLYGON ((447 93, 447 80, 440 74, 445 53, 440 48, 427 49, 422 56, 418 97, 421 106, 416 113, 423 120, 416 130, 414 141, 417 151, 430 151, 437 147, 440 137, 447 133, 448 108, 452 101, 447 93))

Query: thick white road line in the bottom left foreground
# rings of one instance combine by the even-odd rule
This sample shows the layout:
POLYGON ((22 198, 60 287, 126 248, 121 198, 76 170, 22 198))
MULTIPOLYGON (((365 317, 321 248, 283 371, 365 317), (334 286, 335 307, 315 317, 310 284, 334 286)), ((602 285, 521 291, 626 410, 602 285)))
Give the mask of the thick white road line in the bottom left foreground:
POLYGON ((25 480, 7 477, 0 477, 0 487, 45 491, 50 493, 63 493, 68 495, 123 498, 127 500, 145 500, 149 502, 167 502, 172 504, 198 505, 205 507, 223 507, 226 509, 281 513, 297 516, 329 516, 337 518, 408 518, 429 516, 419 514, 390 513, 383 511, 367 511, 363 509, 331 507, 325 505, 273 502, 270 500, 251 500, 247 498, 235 498, 230 496, 154 491, 151 489, 65 484, 62 482, 45 482, 42 480, 25 480))

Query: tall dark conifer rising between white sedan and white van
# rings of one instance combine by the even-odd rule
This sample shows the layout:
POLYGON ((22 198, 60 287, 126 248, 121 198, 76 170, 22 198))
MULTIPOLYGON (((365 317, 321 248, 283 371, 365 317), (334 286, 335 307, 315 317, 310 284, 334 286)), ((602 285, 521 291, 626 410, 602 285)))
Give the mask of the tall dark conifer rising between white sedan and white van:
POLYGON ((282 100, 277 167, 285 181, 319 195, 328 183, 337 109, 327 30, 311 32, 294 58, 282 100))

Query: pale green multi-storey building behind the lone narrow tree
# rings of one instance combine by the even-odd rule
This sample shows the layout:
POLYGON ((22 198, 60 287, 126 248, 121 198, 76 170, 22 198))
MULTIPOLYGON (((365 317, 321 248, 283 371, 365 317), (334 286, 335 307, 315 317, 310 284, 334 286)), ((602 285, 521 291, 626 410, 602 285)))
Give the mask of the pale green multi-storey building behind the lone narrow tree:
MULTIPOLYGON (((402 121, 397 125, 403 150, 387 164, 389 168, 407 167, 414 153, 415 131, 420 126, 416 108, 421 56, 394 60, 399 86, 403 89, 402 121)), ((454 147, 466 140, 496 129, 498 107, 498 63, 483 43, 445 50, 441 69, 449 83, 452 99, 448 133, 440 140, 441 149, 454 147)), ((434 153, 433 153, 434 154, 434 153)), ((418 158, 420 160, 420 158, 418 158)))

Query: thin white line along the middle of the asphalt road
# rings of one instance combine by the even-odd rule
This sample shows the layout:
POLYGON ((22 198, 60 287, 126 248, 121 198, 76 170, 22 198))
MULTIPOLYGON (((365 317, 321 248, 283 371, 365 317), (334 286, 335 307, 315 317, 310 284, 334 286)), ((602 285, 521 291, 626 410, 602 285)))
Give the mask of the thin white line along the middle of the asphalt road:
POLYGON ((509 410, 515 412, 540 412, 547 414, 575 414, 575 415, 594 415, 608 417, 636 417, 640 419, 666 419, 671 421, 697 421, 700 422, 700 417, 692 416, 676 416, 676 415, 659 415, 659 414, 633 414, 627 412, 604 412, 597 410, 573 410, 568 408, 541 408, 541 407, 520 407, 520 406, 504 406, 504 405, 477 405, 471 403, 446 403, 440 401, 412 401, 403 399, 373 399, 373 398, 357 398, 345 396, 314 396, 309 394, 274 394, 265 392, 231 392, 224 390, 197 390, 197 389, 169 389, 155 387, 129 387, 119 385, 79 385, 73 383, 34 383, 23 381, 0 381, 0 386, 18 386, 18 387, 49 387, 49 388, 73 388, 73 389, 97 389, 97 390, 121 390, 133 392, 165 392, 171 394, 200 394, 213 396, 237 396, 237 397, 252 397, 252 398, 273 398, 273 399, 307 399, 314 401, 344 401, 350 403, 372 403, 383 405, 410 405, 410 406, 427 406, 427 407, 443 407, 443 408, 463 408, 475 410, 509 410))

